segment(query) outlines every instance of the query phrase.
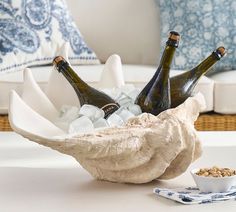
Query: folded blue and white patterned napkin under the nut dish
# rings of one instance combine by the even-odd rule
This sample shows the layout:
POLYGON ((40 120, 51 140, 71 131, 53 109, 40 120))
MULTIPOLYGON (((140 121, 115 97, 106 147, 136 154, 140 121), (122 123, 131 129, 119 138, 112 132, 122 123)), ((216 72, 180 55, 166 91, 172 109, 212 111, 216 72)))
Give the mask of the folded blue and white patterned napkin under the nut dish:
POLYGON ((236 186, 233 186, 227 192, 220 193, 201 192, 196 187, 177 189, 155 188, 153 192, 159 196, 187 205, 213 203, 230 199, 236 200, 236 186))

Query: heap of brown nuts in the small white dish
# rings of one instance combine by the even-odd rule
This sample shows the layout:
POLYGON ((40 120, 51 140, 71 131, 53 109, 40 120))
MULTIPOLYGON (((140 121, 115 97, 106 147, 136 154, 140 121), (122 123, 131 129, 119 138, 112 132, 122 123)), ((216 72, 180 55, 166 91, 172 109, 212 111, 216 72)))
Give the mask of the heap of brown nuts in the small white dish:
POLYGON ((236 170, 213 166, 212 168, 200 169, 196 175, 203 177, 230 177, 236 175, 236 170))

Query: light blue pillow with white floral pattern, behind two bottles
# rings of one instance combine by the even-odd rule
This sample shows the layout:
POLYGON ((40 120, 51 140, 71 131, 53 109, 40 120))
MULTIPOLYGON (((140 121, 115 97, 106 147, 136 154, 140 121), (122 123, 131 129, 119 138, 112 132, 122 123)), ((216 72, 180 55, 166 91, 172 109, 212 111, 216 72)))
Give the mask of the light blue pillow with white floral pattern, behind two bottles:
POLYGON ((224 46, 228 55, 214 69, 236 69, 235 0, 156 1, 160 7, 162 46, 170 30, 181 35, 173 69, 190 69, 219 46, 224 46))

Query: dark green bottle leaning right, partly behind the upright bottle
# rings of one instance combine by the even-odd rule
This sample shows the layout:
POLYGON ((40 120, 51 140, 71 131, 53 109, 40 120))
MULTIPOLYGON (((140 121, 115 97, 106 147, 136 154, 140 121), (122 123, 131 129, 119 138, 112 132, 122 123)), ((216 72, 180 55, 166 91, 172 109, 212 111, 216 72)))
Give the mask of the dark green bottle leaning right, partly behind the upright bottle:
POLYGON ((171 107, 177 107, 188 97, 192 96, 193 89, 197 82, 206 74, 210 68, 217 63, 224 55, 226 50, 223 46, 217 48, 210 56, 190 71, 170 78, 171 107))

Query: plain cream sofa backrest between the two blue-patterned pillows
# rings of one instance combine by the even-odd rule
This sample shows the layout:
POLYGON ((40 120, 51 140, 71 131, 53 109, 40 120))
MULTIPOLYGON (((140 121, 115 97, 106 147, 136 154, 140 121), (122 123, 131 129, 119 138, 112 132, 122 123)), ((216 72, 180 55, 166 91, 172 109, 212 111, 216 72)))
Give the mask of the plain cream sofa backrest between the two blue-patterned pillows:
POLYGON ((88 45, 104 62, 155 65, 159 60, 159 11, 153 0, 67 0, 88 45))

